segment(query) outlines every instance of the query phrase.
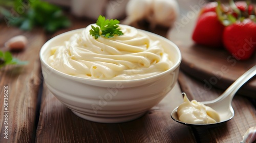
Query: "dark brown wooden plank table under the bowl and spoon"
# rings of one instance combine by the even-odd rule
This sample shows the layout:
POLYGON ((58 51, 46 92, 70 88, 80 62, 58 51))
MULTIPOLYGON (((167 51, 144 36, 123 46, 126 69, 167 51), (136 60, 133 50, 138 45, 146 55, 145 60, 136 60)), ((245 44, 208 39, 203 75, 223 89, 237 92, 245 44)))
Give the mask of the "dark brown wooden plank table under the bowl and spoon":
MULTIPOLYGON (((204 90, 201 81, 184 74, 182 69, 175 88, 137 120, 101 124, 76 116, 44 85, 39 61, 40 47, 51 37, 93 22, 70 18, 72 27, 54 34, 46 34, 40 28, 24 32, 7 27, 4 22, 0 24, 0 49, 15 35, 25 35, 29 40, 25 51, 13 53, 29 64, 0 69, 0 142, 239 142, 248 128, 256 126, 255 99, 239 94, 232 101, 235 116, 225 125, 195 129, 173 121, 170 113, 182 102, 181 92, 198 101, 215 99, 223 92, 216 88, 204 90), (8 100, 4 98, 6 91, 8 100)), ((166 29, 152 32, 166 36, 166 29)))

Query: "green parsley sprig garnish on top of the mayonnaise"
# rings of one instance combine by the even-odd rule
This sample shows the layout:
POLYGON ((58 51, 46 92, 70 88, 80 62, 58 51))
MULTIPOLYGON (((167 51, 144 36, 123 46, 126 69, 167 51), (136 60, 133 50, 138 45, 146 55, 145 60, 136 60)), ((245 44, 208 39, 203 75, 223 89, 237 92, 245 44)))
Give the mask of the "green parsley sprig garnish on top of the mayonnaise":
POLYGON ((94 36, 95 39, 98 39, 100 36, 107 38, 114 37, 115 35, 123 35, 120 28, 118 28, 119 20, 115 19, 105 19, 105 16, 99 15, 96 25, 98 27, 92 26, 90 34, 94 36))

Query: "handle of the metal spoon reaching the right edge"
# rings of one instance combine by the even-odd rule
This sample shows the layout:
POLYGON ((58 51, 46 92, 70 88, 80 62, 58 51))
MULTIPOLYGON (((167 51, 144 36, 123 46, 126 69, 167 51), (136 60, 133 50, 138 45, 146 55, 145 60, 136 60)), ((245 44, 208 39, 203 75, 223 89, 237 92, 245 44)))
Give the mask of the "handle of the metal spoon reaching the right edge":
POLYGON ((238 89, 244 85, 249 79, 251 79, 256 74, 256 65, 247 70, 241 77, 239 77, 236 81, 234 81, 216 100, 222 100, 227 96, 230 96, 232 99, 234 94, 238 91, 238 89))

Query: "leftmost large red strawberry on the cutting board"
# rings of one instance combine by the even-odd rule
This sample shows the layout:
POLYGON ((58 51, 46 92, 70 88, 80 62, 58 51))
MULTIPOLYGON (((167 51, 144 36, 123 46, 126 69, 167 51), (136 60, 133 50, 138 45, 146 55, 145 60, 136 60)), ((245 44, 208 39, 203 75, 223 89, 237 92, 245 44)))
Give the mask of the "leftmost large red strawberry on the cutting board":
POLYGON ((192 39, 198 44, 221 47, 223 30, 216 12, 207 12, 199 17, 192 39))

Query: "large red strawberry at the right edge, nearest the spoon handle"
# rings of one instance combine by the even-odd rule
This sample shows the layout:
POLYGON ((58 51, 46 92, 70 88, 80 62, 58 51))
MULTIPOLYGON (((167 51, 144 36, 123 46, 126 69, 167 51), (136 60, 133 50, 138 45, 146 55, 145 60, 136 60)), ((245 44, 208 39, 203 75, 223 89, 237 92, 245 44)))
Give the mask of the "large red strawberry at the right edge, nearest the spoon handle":
POLYGON ((249 59, 256 48, 256 23, 250 19, 237 21, 224 29, 223 43, 237 60, 249 59))

